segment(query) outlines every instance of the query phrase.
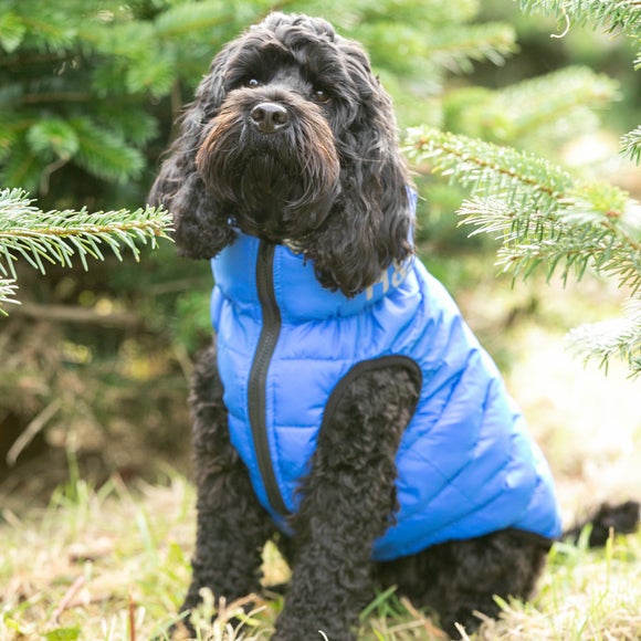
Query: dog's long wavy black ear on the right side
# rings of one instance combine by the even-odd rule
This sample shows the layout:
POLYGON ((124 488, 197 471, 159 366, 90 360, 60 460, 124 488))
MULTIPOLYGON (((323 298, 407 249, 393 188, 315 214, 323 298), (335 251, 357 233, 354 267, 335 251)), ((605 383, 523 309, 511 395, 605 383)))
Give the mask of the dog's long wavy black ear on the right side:
POLYGON ((356 87, 348 108, 356 112, 345 115, 349 123, 337 134, 340 196, 306 253, 324 286, 353 296, 374 284, 393 261, 411 254, 411 180, 400 156, 390 97, 360 46, 341 42, 356 87))

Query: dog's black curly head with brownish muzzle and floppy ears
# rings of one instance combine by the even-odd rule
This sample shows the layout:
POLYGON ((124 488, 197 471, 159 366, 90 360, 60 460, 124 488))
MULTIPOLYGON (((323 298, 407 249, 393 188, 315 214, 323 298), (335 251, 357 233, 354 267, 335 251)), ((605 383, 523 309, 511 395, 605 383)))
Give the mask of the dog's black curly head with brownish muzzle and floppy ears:
POLYGON ((214 57, 149 200, 172 211, 183 255, 211 258, 240 229, 290 243, 351 296, 411 252, 409 183, 360 45, 272 13, 214 57))

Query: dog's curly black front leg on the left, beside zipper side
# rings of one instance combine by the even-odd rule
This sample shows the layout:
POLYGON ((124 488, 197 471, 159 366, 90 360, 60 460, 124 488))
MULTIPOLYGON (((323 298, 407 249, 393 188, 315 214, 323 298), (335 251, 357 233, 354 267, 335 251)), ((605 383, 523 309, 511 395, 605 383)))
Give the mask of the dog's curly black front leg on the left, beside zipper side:
POLYGON ((193 576, 182 611, 200 603, 209 588, 217 602, 260 588, 263 546, 273 532, 248 470, 231 445, 216 349, 206 351, 193 377, 191 408, 198 490, 193 576))

